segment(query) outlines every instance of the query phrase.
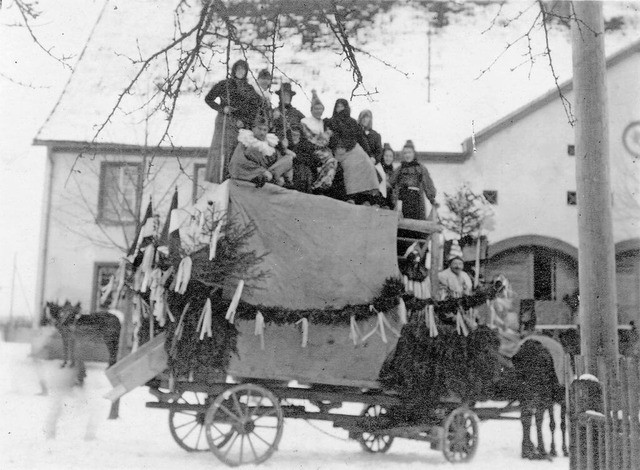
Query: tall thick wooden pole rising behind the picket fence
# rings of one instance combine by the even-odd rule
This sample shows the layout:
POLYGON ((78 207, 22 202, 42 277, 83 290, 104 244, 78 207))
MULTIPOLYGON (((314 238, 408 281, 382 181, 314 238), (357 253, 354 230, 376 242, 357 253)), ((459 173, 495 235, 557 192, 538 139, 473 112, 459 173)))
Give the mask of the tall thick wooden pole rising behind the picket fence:
POLYGON ((598 356, 614 373, 618 367, 604 21, 602 2, 573 2, 573 8, 580 326, 587 372, 595 375, 598 356))

